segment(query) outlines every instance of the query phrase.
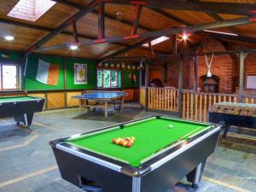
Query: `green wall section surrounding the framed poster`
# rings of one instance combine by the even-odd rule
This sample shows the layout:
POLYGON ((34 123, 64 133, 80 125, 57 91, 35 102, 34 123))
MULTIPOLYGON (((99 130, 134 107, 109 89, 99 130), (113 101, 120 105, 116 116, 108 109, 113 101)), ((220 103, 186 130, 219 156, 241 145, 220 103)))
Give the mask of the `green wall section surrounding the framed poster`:
POLYGON ((67 89, 95 89, 96 62, 79 58, 67 58, 67 89), (74 84, 73 64, 87 64, 87 84, 74 84))

